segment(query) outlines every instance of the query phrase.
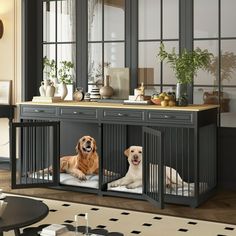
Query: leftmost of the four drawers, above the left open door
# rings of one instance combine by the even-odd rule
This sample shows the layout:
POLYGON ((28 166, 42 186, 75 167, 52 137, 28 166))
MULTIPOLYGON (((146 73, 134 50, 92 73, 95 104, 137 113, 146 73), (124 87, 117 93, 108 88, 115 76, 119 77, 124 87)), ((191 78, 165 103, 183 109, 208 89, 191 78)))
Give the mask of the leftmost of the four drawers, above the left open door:
POLYGON ((56 107, 41 107, 41 106, 23 106, 21 107, 21 116, 33 117, 55 117, 56 107))

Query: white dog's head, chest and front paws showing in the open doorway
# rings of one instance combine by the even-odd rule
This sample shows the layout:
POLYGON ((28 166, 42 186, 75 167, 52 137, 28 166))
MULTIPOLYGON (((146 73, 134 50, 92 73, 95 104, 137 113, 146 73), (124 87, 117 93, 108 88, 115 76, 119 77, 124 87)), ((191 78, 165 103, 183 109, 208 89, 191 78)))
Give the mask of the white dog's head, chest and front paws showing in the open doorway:
POLYGON ((128 157, 129 169, 126 175, 110 183, 110 187, 126 186, 137 188, 142 186, 142 147, 131 146, 124 151, 128 157))

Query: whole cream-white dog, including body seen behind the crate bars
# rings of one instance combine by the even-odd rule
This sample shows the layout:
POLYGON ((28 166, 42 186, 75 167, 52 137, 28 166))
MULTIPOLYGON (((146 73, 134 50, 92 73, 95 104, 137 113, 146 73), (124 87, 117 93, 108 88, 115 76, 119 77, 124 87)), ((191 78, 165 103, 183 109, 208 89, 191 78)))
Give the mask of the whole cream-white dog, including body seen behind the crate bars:
MULTIPOLYGON (((111 182, 110 187, 125 186, 128 189, 142 187, 142 149, 141 146, 131 146, 124 151, 125 156, 128 157, 129 169, 123 178, 111 182)), ((158 165, 150 163, 149 171, 150 178, 151 176, 156 176, 155 180, 150 179, 150 183, 157 187, 158 165)), ((169 166, 165 166, 164 176, 165 186, 168 188, 181 188, 188 185, 178 172, 169 166)))

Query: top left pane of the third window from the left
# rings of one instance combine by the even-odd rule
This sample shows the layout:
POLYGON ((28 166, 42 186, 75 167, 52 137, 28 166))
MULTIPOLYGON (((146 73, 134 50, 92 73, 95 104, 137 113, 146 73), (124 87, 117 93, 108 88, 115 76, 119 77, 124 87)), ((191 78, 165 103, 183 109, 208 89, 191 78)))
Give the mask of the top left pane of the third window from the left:
POLYGON ((160 0, 139 0, 139 39, 160 39, 160 0))

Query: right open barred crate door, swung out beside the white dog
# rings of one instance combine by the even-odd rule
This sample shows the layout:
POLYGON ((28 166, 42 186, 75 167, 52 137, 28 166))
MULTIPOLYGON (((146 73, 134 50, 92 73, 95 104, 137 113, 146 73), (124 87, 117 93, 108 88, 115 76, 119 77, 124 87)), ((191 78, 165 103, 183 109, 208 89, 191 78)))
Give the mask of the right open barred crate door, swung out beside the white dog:
POLYGON ((143 127, 143 194, 147 200, 163 208, 163 134, 143 127))

